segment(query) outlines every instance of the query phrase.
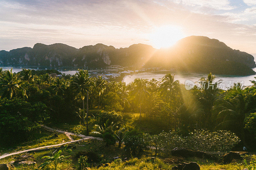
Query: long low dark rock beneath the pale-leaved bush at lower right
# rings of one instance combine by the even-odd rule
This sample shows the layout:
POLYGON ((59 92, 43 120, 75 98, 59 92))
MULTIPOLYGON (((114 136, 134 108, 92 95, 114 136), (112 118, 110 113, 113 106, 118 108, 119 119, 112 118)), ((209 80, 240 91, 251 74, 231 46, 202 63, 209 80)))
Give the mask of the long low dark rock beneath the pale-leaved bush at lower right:
POLYGON ((183 158, 188 158, 188 157, 197 157, 197 158, 205 158, 205 159, 212 159, 215 161, 218 161, 219 159, 209 153, 202 152, 202 151, 193 151, 190 149, 184 149, 184 148, 174 148, 171 151, 172 156, 181 156, 183 158))

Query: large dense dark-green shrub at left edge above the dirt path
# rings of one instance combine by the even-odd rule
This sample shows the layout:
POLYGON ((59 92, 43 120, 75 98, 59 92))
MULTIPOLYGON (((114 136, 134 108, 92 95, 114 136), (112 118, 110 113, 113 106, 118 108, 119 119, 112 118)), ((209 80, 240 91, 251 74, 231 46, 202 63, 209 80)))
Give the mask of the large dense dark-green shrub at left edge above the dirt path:
POLYGON ((0 100, 0 145, 12 145, 32 137, 46 118, 46 106, 23 99, 0 100))

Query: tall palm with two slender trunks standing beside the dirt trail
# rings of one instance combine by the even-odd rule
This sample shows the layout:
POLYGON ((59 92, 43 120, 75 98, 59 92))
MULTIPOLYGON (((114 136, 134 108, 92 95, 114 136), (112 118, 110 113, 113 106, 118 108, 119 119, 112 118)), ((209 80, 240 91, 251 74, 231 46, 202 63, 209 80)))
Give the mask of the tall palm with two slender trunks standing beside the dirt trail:
POLYGON ((93 86, 93 81, 91 78, 88 76, 88 71, 87 70, 80 70, 78 69, 78 72, 76 72, 75 76, 72 77, 71 79, 71 84, 70 86, 76 90, 76 92, 80 95, 81 99, 83 100, 83 124, 85 125, 84 122, 84 98, 85 95, 87 94, 87 109, 86 109, 86 128, 87 128, 87 134, 89 134, 89 129, 88 129, 88 99, 89 99, 89 92, 92 89, 93 86))

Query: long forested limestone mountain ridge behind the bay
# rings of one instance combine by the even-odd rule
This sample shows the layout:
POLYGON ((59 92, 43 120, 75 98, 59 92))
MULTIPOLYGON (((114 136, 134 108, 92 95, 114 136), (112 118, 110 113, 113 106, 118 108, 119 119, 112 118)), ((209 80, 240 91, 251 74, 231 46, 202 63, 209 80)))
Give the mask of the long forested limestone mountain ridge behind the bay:
POLYGON ((145 44, 133 44, 119 49, 96 44, 77 49, 61 43, 37 43, 33 48, 0 51, 0 66, 10 65, 89 68, 121 65, 232 75, 255 74, 251 68, 256 66, 252 55, 203 36, 186 37, 172 48, 159 50, 145 44))

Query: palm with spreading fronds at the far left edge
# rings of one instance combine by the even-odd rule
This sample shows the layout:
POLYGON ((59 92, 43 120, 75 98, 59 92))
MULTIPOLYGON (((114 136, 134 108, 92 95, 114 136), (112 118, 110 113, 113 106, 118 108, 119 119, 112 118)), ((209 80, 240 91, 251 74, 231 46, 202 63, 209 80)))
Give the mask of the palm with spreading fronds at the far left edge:
POLYGON ((26 90, 22 87, 24 83, 21 80, 19 74, 12 73, 11 70, 4 71, 0 77, 0 94, 1 98, 6 97, 7 99, 11 100, 12 97, 17 97, 17 93, 21 92, 22 96, 27 98, 26 90))

